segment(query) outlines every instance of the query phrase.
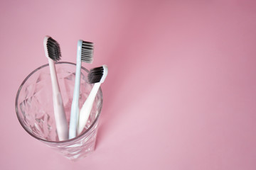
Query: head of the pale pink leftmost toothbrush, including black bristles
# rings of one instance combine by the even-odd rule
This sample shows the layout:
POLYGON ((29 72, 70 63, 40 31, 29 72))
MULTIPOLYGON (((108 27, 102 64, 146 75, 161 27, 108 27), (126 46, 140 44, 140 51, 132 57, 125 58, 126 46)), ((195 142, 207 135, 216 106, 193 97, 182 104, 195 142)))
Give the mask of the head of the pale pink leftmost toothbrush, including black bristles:
POLYGON ((60 45, 53 38, 46 36, 43 40, 43 45, 45 48, 46 57, 55 62, 58 62, 61 57, 60 45))

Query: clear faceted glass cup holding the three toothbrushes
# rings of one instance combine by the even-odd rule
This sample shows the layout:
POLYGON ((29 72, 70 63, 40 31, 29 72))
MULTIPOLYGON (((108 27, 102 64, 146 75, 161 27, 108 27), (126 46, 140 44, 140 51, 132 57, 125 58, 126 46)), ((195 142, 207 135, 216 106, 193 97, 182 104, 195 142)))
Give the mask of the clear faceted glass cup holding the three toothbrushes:
MULTIPOLYGON (((70 121, 70 108, 75 85, 75 64, 55 63, 60 92, 63 97, 65 114, 70 121)), ((80 108, 90 94, 92 84, 87 82, 88 70, 81 68, 80 108)), ((77 137, 59 141, 53 113, 53 96, 48 64, 35 69, 23 80, 16 95, 15 108, 21 126, 29 135, 56 149, 71 160, 86 157, 95 149, 97 128, 102 109, 102 90, 99 89, 92 107, 90 118, 84 130, 77 137)))

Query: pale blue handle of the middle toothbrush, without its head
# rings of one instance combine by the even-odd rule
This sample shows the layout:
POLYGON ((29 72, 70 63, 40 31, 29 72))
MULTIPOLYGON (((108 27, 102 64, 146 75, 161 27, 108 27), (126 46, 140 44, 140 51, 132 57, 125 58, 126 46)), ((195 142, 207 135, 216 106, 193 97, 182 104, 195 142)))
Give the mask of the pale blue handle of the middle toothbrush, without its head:
POLYGON ((75 71, 75 88, 73 94, 73 101, 70 112, 70 128, 69 139, 76 137, 78 127, 78 114, 79 114, 79 93, 80 93, 80 74, 81 74, 81 57, 77 57, 76 71, 75 71))

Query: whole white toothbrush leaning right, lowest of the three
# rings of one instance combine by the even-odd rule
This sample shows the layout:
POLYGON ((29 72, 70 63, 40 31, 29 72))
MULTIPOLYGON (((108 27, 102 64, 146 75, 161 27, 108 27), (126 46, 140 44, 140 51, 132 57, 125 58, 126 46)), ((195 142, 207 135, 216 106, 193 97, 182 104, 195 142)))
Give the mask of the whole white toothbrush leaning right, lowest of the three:
POLYGON ((90 69, 90 72, 88 74, 88 80, 89 83, 94 84, 94 86, 92 87, 92 91, 90 91, 89 96, 87 97, 85 103, 83 104, 80 110, 78 134, 80 134, 82 130, 85 128, 90 112, 92 111, 92 106, 97 95, 97 91, 100 89, 100 84, 102 84, 105 81, 107 77, 107 72, 107 65, 90 69))

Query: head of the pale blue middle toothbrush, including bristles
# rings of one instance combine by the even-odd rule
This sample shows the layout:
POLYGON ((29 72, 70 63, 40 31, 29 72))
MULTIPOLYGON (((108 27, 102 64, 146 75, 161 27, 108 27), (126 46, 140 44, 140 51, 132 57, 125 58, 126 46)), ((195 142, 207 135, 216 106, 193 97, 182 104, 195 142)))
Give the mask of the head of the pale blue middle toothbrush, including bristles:
POLYGON ((92 63, 93 42, 78 40, 78 53, 82 62, 92 63))

